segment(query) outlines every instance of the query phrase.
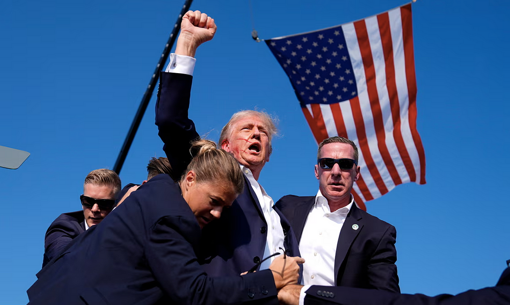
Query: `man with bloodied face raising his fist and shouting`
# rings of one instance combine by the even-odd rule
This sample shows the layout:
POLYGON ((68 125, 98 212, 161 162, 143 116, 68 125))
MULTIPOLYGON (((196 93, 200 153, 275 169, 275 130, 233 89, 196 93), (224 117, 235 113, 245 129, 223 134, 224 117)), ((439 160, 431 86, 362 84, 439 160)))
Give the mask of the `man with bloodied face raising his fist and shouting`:
MULTIPOLYGON (((199 138, 188 118, 195 52, 216 33, 214 19, 199 11, 183 16, 175 53, 170 54, 166 72, 161 73, 156 125, 164 151, 179 179, 190 162, 190 142, 199 138)), ((235 275, 255 268, 267 269, 274 257, 286 251, 298 256, 299 249, 287 219, 273 207, 272 198, 258 183, 271 154, 276 127, 267 114, 242 111, 223 127, 219 144, 239 162, 245 187, 227 209, 202 232, 201 262, 211 275, 235 275)))

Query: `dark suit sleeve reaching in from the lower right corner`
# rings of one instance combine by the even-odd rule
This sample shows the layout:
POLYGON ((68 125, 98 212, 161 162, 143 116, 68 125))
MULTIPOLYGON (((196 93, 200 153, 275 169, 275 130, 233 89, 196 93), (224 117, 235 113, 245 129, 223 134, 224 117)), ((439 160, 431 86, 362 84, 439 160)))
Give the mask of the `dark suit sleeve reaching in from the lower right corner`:
POLYGON ((501 274, 495 287, 450 295, 399 294, 349 287, 312 286, 304 305, 503 305, 510 304, 510 268, 501 274))

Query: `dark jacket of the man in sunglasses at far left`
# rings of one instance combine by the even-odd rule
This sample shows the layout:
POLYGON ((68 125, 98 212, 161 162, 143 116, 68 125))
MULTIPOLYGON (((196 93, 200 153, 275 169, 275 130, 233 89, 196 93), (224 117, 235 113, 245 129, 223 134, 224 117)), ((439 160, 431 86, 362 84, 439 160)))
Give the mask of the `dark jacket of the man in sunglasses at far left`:
POLYGON ((82 211, 61 214, 49 225, 44 236, 42 267, 59 256, 75 237, 85 232, 85 216, 82 211))

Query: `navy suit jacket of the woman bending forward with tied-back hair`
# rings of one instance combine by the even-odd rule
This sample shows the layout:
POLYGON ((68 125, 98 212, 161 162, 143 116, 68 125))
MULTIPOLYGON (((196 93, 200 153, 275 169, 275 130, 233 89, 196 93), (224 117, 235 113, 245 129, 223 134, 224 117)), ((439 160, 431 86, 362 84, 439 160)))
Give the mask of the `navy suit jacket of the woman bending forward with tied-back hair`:
POLYGON ((211 278, 200 227, 179 185, 158 175, 38 274, 29 304, 277 304, 270 270, 211 278))

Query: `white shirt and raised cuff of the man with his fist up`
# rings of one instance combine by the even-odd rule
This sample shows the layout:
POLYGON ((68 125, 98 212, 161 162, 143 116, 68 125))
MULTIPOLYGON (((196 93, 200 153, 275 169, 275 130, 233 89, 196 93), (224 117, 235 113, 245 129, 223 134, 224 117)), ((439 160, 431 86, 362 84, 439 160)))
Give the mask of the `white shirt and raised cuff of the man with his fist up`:
MULTIPOLYGON (((166 67, 165 72, 193 75, 195 62, 196 59, 192 57, 171 53, 170 63, 166 67)), ((261 257, 260 259, 262 260, 276 252, 282 253, 282 251, 279 250, 279 247, 284 248, 285 236, 280 216, 273 209, 274 201, 269 195, 267 195, 267 192, 264 190, 262 185, 260 185, 259 182, 257 182, 257 180, 253 177, 251 171, 243 165, 239 166, 241 167, 243 174, 246 176, 246 178, 248 178, 251 188, 253 188, 253 191, 255 191, 257 199, 259 200, 259 203, 262 207, 264 218, 266 218, 266 247, 264 249, 264 257, 261 257)), ((260 269, 268 269, 273 260, 274 257, 263 262, 260 266, 260 269)))

